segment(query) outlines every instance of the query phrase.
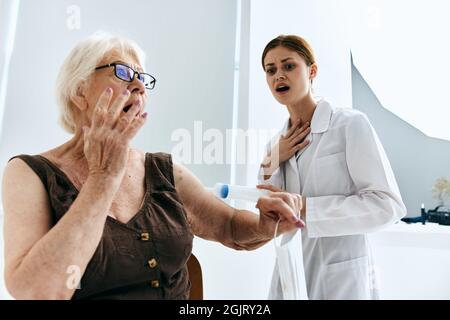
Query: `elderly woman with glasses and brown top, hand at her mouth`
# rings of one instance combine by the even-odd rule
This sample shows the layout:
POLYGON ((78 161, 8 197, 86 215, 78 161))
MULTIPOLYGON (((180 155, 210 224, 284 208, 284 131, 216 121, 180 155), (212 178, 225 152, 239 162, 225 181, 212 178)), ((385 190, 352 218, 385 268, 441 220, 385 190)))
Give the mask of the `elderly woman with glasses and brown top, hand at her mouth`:
POLYGON ((20 155, 3 181, 5 280, 19 299, 186 299, 194 235, 256 249, 303 227, 301 197, 274 192, 256 215, 203 188, 169 154, 130 141, 146 122, 142 50, 96 34, 65 60, 57 94, 73 137, 20 155), (79 281, 81 279, 81 282, 79 281))

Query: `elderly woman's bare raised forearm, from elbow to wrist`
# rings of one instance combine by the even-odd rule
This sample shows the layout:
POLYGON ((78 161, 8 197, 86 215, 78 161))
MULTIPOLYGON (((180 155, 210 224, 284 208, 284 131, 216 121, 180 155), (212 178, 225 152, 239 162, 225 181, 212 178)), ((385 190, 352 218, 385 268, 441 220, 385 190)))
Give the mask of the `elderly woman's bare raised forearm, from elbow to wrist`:
POLYGON ((118 188, 111 179, 88 178, 64 217, 41 238, 10 276, 12 294, 19 299, 70 299, 103 234, 118 188), (74 266, 75 274, 68 273, 74 266), (79 281, 80 279, 76 279, 79 281))

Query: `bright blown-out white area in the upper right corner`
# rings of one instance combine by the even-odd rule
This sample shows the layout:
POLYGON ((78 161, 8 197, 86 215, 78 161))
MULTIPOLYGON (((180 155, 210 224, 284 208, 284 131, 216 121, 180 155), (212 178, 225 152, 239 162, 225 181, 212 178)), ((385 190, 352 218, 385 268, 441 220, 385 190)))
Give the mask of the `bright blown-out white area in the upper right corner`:
POLYGON ((450 3, 345 3, 355 66, 381 104, 427 136, 450 140, 446 99, 450 3))

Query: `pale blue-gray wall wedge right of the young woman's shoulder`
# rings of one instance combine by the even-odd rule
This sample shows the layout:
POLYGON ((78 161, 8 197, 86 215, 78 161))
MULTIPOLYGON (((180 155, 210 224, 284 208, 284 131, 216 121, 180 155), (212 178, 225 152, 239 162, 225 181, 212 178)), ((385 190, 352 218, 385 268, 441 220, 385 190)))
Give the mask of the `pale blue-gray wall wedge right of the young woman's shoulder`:
POLYGON ((409 216, 420 215, 421 205, 435 208, 433 185, 450 176, 450 141, 431 138, 389 111, 353 66, 354 108, 364 112, 375 128, 400 188, 409 216))

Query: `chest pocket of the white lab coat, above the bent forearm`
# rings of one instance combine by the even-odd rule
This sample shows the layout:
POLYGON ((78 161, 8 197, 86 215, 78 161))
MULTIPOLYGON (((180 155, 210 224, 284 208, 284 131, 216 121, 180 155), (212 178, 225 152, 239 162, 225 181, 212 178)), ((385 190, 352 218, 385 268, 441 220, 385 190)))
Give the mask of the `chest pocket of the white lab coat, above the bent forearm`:
POLYGON ((316 191, 320 195, 350 194, 351 178, 348 172, 345 152, 318 157, 314 167, 316 191))

